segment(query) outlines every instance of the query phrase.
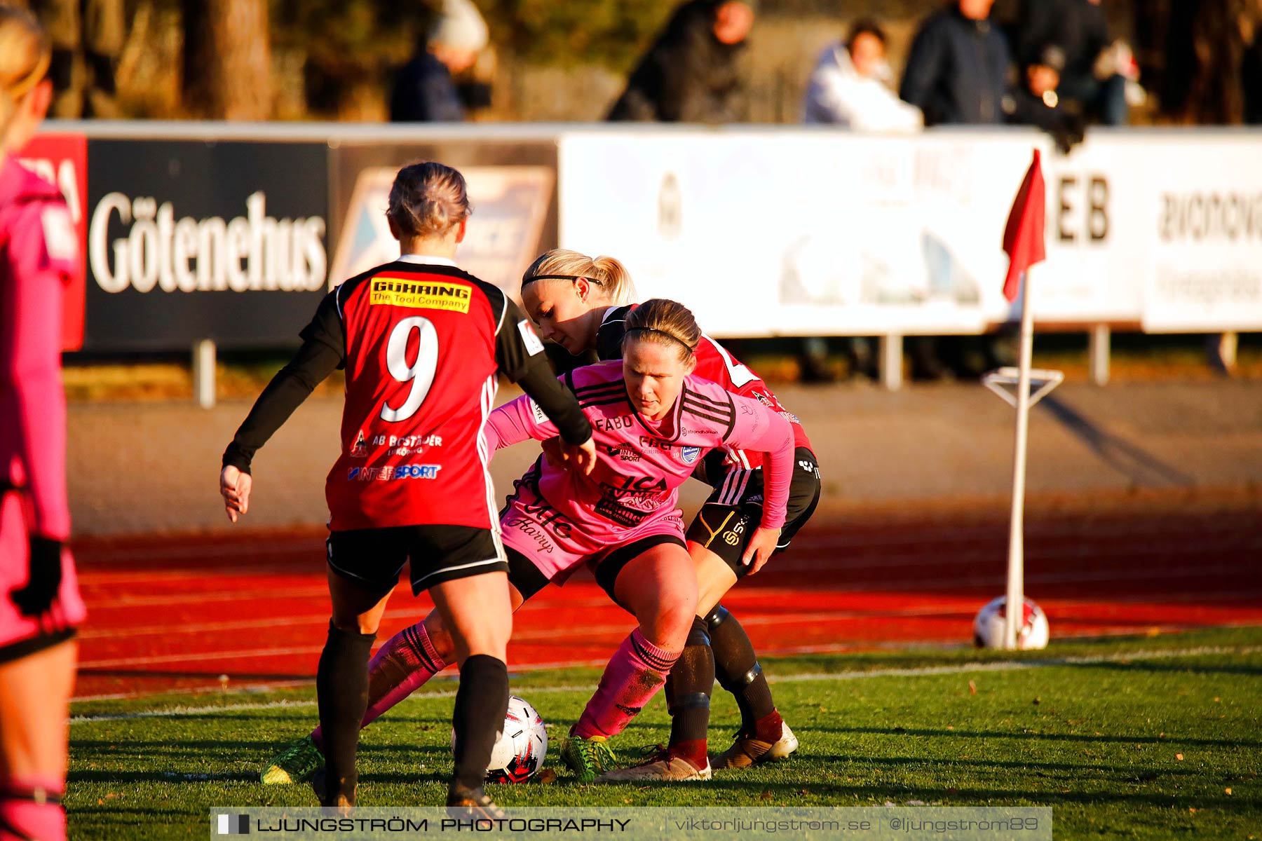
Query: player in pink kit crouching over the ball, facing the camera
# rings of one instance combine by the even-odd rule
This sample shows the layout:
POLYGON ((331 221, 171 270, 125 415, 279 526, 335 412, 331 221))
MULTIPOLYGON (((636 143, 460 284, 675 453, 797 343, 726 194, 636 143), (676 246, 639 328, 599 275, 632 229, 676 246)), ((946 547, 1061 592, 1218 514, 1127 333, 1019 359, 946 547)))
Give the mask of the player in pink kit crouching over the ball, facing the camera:
MULTIPOLYGON (((597 441, 591 475, 540 459, 500 514, 514 606, 589 562, 610 595, 640 620, 563 746, 582 782, 612 769, 606 740, 663 686, 695 625, 697 583, 675 507, 679 485, 716 448, 771 451, 767 504, 745 550, 746 562, 761 566, 775 550, 793 473, 793 436, 780 415, 688 374, 700 330, 687 309, 652 301, 631 324, 621 364, 567 376, 597 441)), ((497 409, 487 426, 495 446, 553 434, 529 397, 497 409)), ((442 671, 451 651, 435 613, 391 638, 372 662, 365 724, 442 671)), ((313 773, 322 741, 317 729, 290 745, 264 770, 264 782, 297 782, 313 773)), ((684 767, 676 763, 676 773, 684 767)), ((690 778, 709 777, 704 753, 687 768, 690 778)))

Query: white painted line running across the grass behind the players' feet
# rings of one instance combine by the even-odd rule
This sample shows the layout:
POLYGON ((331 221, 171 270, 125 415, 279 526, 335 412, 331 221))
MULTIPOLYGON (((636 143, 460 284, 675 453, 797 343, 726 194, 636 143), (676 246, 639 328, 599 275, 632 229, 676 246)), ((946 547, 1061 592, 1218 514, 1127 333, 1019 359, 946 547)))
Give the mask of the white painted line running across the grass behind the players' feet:
MULTIPOLYGON (((1017 672, 1027 671, 1035 668, 1047 668, 1054 666, 1090 666, 1093 663, 1117 663, 1127 661, 1143 661, 1143 659, 1172 659, 1179 657, 1203 657, 1206 654, 1256 654, 1262 652, 1262 646, 1244 646, 1239 648, 1228 648, 1223 646, 1199 646, 1196 648, 1166 648, 1166 649, 1152 649, 1152 651, 1133 651, 1133 652, 1117 652, 1114 654, 1099 654, 1099 656, 1076 656, 1076 657, 1053 657, 1047 659, 1029 659, 1029 661, 1000 661, 991 663, 955 663, 952 666, 920 666, 915 668, 873 668, 863 672, 811 672, 805 675, 784 675, 780 677, 771 677, 772 683, 798 683, 806 681, 857 681, 870 677, 926 677, 933 675, 960 675, 964 672, 1017 672)), ((533 693, 544 692, 588 692, 591 691, 591 685, 583 686, 533 686, 529 688, 533 693)), ((420 695, 411 695, 405 699, 408 701, 420 701, 427 699, 448 699, 456 697, 456 692, 423 692, 420 695)), ((199 706, 199 707, 172 707, 169 710, 148 710, 144 712, 120 712, 120 714, 107 714, 107 715, 77 715, 72 716, 69 722, 76 724, 96 724, 101 721, 127 721, 131 719, 177 719, 187 715, 207 715, 209 712, 245 712, 251 710, 276 710, 276 709, 305 709, 316 706, 316 701, 265 701, 261 704, 227 704, 220 706, 199 706)))

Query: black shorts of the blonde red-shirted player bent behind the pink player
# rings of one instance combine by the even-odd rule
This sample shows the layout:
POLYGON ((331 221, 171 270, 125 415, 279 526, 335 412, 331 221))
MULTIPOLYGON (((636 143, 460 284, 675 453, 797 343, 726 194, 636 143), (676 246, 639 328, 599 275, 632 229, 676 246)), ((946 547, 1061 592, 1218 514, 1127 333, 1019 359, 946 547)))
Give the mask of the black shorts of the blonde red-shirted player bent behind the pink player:
MULTIPOLYGON (((741 556, 762 519, 762 468, 747 470, 732 467, 712 484, 714 493, 688 526, 688 540, 722 557, 736 577, 742 577, 750 567, 741 562, 741 556)), ((815 513, 819 492, 819 461, 814 453, 799 446, 794 450, 789 506, 776 554, 789 548, 794 535, 815 513)))

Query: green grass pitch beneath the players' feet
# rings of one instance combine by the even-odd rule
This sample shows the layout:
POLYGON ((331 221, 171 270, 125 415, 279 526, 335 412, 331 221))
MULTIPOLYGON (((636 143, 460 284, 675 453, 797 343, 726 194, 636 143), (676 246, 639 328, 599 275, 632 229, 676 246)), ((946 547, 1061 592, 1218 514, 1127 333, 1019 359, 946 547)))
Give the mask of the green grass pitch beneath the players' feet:
MULTIPOLYGON (((708 783, 578 786, 557 743, 598 672, 514 676, 549 722, 554 783, 488 787, 502 806, 1050 806, 1058 838, 1262 838, 1262 628, 1054 642, 1006 656, 905 649, 764 661, 801 740, 787 762, 708 783)), ((362 806, 442 803, 456 682, 363 733, 362 806)), ((716 686, 711 749, 738 724, 716 686)), ((316 806, 259 770, 316 719, 314 688, 76 705, 71 837, 184 838, 218 806, 316 806)), ((620 757, 665 741, 659 697, 620 757)))

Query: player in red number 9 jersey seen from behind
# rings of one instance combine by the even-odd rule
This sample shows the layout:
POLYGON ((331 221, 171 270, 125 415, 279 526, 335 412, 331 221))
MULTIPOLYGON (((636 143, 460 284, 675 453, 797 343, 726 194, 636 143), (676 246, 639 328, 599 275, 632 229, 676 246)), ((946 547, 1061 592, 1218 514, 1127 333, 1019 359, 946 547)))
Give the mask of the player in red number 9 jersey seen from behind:
MULTIPOLYGON (((259 396, 223 454, 228 517, 249 509, 255 451, 334 368, 346 368, 342 453, 326 482, 333 615, 316 678, 326 806, 355 804, 355 754, 369 697, 369 653, 404 564, 429 590, 461 664, 456 769, 448 806, 498 813, 482 789, 509 702, 512 628, 483 426, 497 369, 519 382, 591 469, 592 430, 551 376, 516 304, 459 270, 469 213, 464 178, 427 161, 403 168, 386 216, 399 260, 329 293, 303 345, 259 396)), ((323 789, 323 791, 321 791, 323 789)))

